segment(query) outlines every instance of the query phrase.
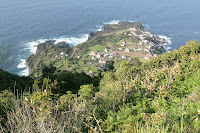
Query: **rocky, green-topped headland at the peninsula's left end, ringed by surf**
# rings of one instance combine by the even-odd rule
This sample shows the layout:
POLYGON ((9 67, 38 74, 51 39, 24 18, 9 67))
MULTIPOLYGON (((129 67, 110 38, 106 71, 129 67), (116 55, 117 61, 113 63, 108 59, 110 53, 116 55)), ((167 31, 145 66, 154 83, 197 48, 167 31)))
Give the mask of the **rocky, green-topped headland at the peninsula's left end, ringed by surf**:
POLYGON ((71 49, 67 42, 56 44, 54 40, 49 40, 40 43, 37 46, 36 53, 26 59, 29 72, 34 73, 35 70, 41 71, 43 66, 54 64, 57 58, 67 57, 70 55, 71 49))

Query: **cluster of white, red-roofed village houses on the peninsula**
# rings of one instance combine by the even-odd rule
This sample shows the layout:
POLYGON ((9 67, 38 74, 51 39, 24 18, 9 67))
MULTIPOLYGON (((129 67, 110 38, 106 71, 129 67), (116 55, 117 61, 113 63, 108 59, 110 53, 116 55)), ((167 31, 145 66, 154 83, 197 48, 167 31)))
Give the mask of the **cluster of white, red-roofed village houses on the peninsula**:
MULTIPOLYGON (((139 42, 135 45, 128 45, 125 40, 121 43, 121 45, 115 45, 115 49, 106 47, 104 52, 98 52, 97 50, 90 51, 89 55, 91 56, 91 60, 97 60, 100 64, 106 64, 107 60, 114 59, 117 57, 118 59, 129 59, 131 57, 143 57, 148 60, 152 57, 156 57, 157 54, 152 51, 152 47, 166 44, 167 41, 158 38, 156 35, 152 34, 148 31, 138 31, 136 27, 130 28, 129 33, 124 33, 124 35, 128 35, 129 37, 137 37, 139 38, 139 42), (152 41, 147 40, 146 38, 151 38, 152 41), (156 40, 159 42, 155 44, 153 41, 156 40), (117 50, 116 50, 117 48, 117 50)), ((80 57, 79 57, 80 58, 80 57)))

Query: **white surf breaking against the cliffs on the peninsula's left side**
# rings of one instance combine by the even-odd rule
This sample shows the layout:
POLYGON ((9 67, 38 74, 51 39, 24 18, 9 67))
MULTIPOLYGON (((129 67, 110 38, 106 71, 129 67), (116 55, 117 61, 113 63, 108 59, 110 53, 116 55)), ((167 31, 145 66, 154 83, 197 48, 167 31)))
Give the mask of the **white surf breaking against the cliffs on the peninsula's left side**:
MULTIPOLYGON (((55 43, 67 42, 67 43, 75 46, 77 44, 80 44, 80 43, 87 41, 88 36, 89 36, 88 34, 84 34, 84 35, 82 35, 78 38, 77 37, 55 37, 55 38, 51 38, 51 39, 39 39, 39 40, 36 40, 36 41, 31 41, 31 42, 26 43, 25 45, 26 45, 27 48, 25 48, 25 49, 28 49, 28 50, 30 50, 30 52, 32 54, 35 54, 36 50, 37 50, 37 45, 40 44, 40 43, 44 43, 47 40, 55 40, 55 43)), ((17 68, 23 69, 22 71, 19 72, 19 75, 22 75, 22 76, 28 76, 29 75, 29 71, 28 71, 28 67, 26 66, 26 60, 25 59, 21 59, 21 62, 19 63, 17 68)))

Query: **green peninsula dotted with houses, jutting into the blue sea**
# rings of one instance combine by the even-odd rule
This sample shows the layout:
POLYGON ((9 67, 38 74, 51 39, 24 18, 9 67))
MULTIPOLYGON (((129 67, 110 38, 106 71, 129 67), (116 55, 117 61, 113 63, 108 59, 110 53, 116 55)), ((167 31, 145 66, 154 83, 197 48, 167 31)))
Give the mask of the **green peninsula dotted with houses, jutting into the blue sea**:
POLYGON ((123 60, 146 62, 166 52, 165 39, 145 31, 141 23, 119 22, 104 25, 101 31, 91 32, 88 40, 70 47, 67 42, 55 44, 49 40, 37 46, 36 54, 26 59, 29 71, 34 77, 41 75, 42 67, 50 64, 56 70, 84 72, 95 75, 104 70, 109 61, 115 68, 123 60))

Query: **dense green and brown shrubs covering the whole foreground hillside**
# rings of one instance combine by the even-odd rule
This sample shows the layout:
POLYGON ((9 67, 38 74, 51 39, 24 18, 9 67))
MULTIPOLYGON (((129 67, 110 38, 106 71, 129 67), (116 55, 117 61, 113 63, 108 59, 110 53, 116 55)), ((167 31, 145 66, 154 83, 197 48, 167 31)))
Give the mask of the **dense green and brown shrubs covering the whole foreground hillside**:
POLYGON ((147 63, 123 61, 102 79, 48 69, 32 93, 0 94, 0 131, 200 132, 197 41, 147 63))

